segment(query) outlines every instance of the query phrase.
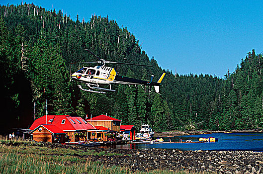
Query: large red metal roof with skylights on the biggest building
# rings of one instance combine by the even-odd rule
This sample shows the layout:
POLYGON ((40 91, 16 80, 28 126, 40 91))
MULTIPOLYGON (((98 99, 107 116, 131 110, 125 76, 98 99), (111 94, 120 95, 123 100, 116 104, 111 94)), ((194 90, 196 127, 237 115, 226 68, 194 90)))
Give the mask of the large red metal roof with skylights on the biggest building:
POLYGON ((78 131, 96 129, 82 117, 70 115, 44 115, 34 121, 29 129, 34 130, 39 125, 55 125, 63 131, 78 131))

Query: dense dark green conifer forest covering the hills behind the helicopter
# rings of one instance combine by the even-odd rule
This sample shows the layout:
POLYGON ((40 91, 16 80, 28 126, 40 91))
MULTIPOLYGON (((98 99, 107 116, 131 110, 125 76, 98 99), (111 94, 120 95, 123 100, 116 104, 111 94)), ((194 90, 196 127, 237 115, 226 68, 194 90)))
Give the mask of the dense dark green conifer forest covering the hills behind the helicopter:
MULTIPOLYGON (((246 44, 246 43, 244 43, 246 44)), ((89 64, 85 66, 95 66, 89 64)), ((0 129, 28 128, 36 118, 107 114, 123 125, 149 123, 155 131, 258 129, 263 126, 263 57, 252 50, 224 79, 174 75, 141 49, 126 27, 93 15, 73 21, 59 10, 34 4, 0 6, 0 129), (85 92, 70 81, 71 62, 102 59, 153 67, 109 65, 120 75, 154 81, 167 73, 161 94, 114 85, 116 92, 85 92), (46 107, 47 101, 47 107, 46 107)))

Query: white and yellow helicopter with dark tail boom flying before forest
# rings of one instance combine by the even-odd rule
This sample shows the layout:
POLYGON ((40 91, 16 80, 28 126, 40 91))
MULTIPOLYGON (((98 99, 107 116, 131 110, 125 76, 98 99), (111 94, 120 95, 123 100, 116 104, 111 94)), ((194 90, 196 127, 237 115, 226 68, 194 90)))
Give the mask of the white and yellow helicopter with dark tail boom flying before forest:
MULTIPOLYGON (((71 75, 71 78, 77 82, 84 83, 87 85, 87 88, 83 88, 83 86, 78 85, 78 87, 84 91, 88 92, 96 92, 96 93, 106 93, 106 91, 115 92, 116 90, 111 89, 111 84, 126 84, 126 85, 140 85, 143 86, 154 87, 155 91, 160 94, 160 84, 165 77, 165 73, 160 77, 157 82, 153 82, 153 75, 151 77, 151 81, 143 81, 133 78, 128 78, 124 76, 120 76, 119 73, 112 67, 105 67, 106 63, 111 64, 125 64, 125 65, 137 65, 137 66, 145 66, 152 67, 151 65, 141 65, 141 64, 130 64, 123 62, 110 62, 104 59, 100 59, 93 52, 88 49, 84 49, 92 54, 94 57, 98 59, 95 62, 76 62, 71 64, 85 64, 85 63, 98 63, 99 65, 95 67, 83 67, 77 72, 71 75), (100 85, 109 85, 109 88, 100 87, 100 85)), ((146 88, 145 88, 146 89, 146 88)), ((150 92, 150 91, 149 91, 150 92)))

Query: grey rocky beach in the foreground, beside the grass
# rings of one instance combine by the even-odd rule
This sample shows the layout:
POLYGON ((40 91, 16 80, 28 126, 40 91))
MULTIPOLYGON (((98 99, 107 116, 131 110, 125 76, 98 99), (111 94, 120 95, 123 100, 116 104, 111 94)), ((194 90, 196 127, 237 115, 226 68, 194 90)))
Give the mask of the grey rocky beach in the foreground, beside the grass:
MULTIPOLYGON (((31 145, 30 145, 31 146, 31 145)), ((194 173, 222 174, 263 174, 263 152, 252 151, 180 151, 167 149, 101 149, 78 145, 61 145, 37 143, 34 146, 49 148, 82 149, 114 153, 117 155, 86 155, 74 154, 92 162, 99 162, 106 167, 128 167, 131 171, 150 172, 152 170, 187 171, 194 173)))

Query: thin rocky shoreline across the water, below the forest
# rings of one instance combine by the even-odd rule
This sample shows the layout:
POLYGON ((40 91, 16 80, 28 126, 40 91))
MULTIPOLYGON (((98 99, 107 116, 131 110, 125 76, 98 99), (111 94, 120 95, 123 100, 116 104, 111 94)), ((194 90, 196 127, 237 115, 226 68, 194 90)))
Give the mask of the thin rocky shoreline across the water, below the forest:
POLYGON ((215 134, 215 133, 244 133, 244 132, 263 132, 262 129, 249 129, 249 130, 187 130, 187 131, 168 131, 156 132, 155 137, 174 137, 184 135, 202 135, 202 134, 215 134))

